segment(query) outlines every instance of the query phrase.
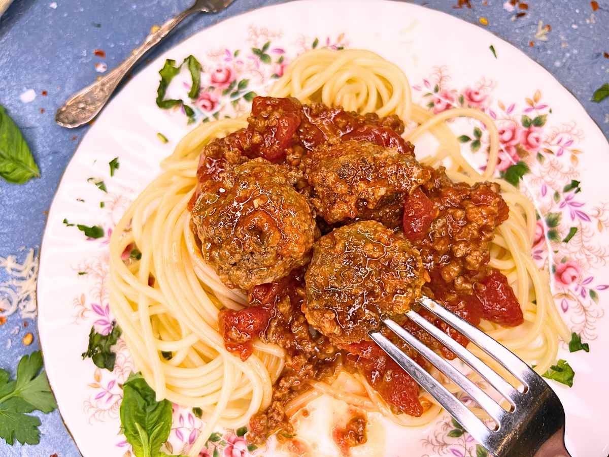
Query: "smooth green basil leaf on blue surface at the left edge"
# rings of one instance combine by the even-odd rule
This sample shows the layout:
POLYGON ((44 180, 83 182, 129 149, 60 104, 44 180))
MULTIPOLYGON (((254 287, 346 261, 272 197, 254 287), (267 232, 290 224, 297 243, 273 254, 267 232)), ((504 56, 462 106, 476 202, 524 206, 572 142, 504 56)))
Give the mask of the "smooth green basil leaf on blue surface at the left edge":
POLYGON ((40 177, 40 170, 26 140, 2 105, 0 105, 0 176, 14 184, 23 184, 32 177, 40 177))

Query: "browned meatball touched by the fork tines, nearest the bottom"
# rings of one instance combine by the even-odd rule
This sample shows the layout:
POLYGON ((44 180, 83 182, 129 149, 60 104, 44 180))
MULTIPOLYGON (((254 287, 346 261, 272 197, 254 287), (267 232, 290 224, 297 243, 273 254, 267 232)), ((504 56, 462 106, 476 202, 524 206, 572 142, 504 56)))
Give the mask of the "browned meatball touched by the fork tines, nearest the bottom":
POLYGON ((381 316, 408 311, 426 278, 406 238, 379 222, 355 222, 314 244, 303 311, 334 344, 359 342, 379 327, 381 316))

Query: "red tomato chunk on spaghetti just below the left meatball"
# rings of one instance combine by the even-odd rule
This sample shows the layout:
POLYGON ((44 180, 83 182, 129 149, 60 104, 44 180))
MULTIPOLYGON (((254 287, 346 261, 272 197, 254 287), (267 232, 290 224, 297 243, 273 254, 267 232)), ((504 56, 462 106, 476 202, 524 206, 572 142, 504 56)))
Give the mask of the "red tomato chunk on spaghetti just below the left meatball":
POLYGON ((220 311, 218 320, 224 347, 241 360, 247 360, 253 352, 253 340, 266 330, 270 314, 270 307, 265 305, 250 306, 239 311, 220 311))

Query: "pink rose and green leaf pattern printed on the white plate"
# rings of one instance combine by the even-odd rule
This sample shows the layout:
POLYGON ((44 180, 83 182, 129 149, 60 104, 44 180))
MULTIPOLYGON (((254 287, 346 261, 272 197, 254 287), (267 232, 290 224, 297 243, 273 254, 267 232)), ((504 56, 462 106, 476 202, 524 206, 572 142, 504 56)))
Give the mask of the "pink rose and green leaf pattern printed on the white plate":
MULTIPOLYGON (((202 122, 219 119, 220 116, 238 116, 248 112, 249 102, 256 91, 264 93, 273 80, 281 77, 290 58, 311 48, 342 49, 349 42, 344 34, 323 39, 300 37, 286 48, 278 44, 281 32, 250 26, 248 49, 217 49, 200 59, 203 65, 202 87, 193 101, 197 118, 202 122)), ((604 311, 599 306, 599 292, 609 285, 599 283, 594 272, 609 260, 609 249, 595 244, 595 235, 609 228, 609 203, 588 207, 579 196, 580 182, 578 156, 582 151, 577 144, 583 133, 577 124, 551 125, 550 105, 542 100, 540 90, 524 101, 510 103, 493 99, 495 83, 484 77, 463 88, 451 87, 451 77, 446 66, 433 68, 432 74, 414 85, 422 104, 434 113, 454 107, 478 108, 495 119, 499 129, 501 150, 498 172, 506 179, 520 182, 521 190, 535 200, 539 210, 533 239, 533 258, 538 266, 552 271, 554 297, 573 331, 586 341, 596 338, 594 323, 604 311), (522 180, 522 182, 521 182, 522 180), (553 256, 548 253, 553 252, 553 256)), ((189 85, 184 85, 183 98, 189 85)), ((469 146, 474 154, 485 154, 488 135, 484 126, 471 124, 471 134, 459 136, 463 147, 469 146)), ((129 200, 135 197, 132 190, 120 194, 108 193, 105 201, 104 221, 106 236, 91 240, 108 243, 112 227, 118 222, 129 200)), ((125 253, 128 257, 128 253, 125 253)), ((74 267, 75 275, 86 280, 82 294, 74 297, 74 322, 100 333, 107 333, 113 318, 108 308, 108 256, 88 258, 74 267)), ((130 372, 136 371, 127 348, 119 340, 116 367, 112 373, 94 370, 88 384, 90 399, 83 409, 90 422, 116 420, 122 400, 119 387, 130 372)), ((85 361, 83 363, 91 363, 85 361)), ((203 422, 191 409, 174 405, 174 421, 166 451, 180 454, 188 451, 203 427, 203 422)), ((271 439, 263 448, 248 445, 244 438, 247 428, 213 433, 200 457, 245 457, 265 455, 275 447, 271 439)), ((443 419, 435 423, 422 441, 424 448, 436 455, 487 456, 486 451, 454 420, 443 419)), ((130 455, 129 445, 120 435, 117 447, 130 455)), ((429 454, 426 454, 429 455, 429 454)))

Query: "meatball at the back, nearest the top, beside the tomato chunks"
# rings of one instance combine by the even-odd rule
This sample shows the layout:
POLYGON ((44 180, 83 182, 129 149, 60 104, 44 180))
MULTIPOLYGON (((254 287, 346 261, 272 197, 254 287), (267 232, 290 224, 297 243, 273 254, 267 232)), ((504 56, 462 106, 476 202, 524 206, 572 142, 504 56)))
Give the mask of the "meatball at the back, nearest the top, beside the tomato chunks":
POLYGON ((431 178, 411 155, 354 140, 317 147, 303 169, 311 203, 329 224, 373 219, 398 227, 404 198, 431 178))

